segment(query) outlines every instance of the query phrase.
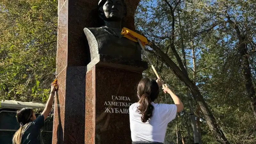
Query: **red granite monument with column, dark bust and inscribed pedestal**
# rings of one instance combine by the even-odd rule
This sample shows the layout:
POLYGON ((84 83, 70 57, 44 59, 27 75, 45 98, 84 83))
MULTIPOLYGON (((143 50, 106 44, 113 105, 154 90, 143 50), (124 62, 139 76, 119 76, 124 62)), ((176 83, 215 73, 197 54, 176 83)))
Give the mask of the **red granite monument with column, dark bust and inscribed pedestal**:
POLYGON ((53 144, 131 143, 129 106, 148 64, 121 29, 134 30, 138 3, 59 1, 53 144))

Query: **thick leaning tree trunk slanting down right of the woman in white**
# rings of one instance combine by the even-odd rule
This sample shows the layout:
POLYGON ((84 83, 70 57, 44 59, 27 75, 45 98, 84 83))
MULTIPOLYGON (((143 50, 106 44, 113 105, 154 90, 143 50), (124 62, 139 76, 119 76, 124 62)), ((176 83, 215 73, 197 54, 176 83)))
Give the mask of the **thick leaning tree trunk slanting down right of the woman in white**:
POLYGON ((169 67, 174 74, 183 81, 186 86, 190 89, 195 101, 198 103, 207 125, 209 126, 212 134, 215 138, 222 144, 229 144, 224 132, 221 130, 220 125, 217 123, 215 117, 212 115, 211 110, 209 109, 208 105, 204 101, 203 96, 201 95, 198 87, 191 81, 181 70, 180 68, 171 60, 171 58, 165 54, 160 48, 158 48, 154 43, 150 43, 151 48, 155 51, 156 55, 163 60, 165 65, 169 67))

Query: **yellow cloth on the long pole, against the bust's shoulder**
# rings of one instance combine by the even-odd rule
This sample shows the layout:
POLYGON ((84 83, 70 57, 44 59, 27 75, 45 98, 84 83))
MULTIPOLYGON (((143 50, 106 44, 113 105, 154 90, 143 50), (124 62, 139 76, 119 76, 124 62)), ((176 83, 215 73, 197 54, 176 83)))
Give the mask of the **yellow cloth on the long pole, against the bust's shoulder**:
POLYGON ((128 28, 123 28, 121 35, 124 35, 124 37, 134 41, 134 42, 138 42, 137 38, 140 39, 140 42, 143 46, 145 46, 146 44, 148 44, 148 40, 145 36, 141 36, 140 34, 137 34, 136 32, 128 29, 128 28))

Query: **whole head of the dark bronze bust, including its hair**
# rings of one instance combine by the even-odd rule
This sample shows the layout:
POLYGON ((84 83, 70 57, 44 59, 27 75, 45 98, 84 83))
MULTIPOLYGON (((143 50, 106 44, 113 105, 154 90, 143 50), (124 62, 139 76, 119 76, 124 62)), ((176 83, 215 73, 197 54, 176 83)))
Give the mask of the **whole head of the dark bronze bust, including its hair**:
POLYGON ((99 17, 106 21, 122 21, 127 15, 124 0, 100 0, 99 17))

